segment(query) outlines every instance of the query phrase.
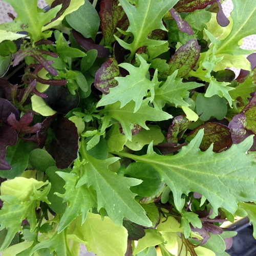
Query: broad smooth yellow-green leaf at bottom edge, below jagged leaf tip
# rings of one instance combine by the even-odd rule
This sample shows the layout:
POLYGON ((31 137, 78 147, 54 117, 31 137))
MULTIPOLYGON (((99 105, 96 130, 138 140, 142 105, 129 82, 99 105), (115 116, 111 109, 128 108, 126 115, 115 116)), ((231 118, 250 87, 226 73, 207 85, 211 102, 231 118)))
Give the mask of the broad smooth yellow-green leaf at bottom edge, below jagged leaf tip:
POLYGON ((82 234, 81 239, 87 242, 87 249, 99 256, 120 256, 126 252, 127 230, 109 217, 102 220, 100 215, 89 212, 86 222, 77 229, 82 234))

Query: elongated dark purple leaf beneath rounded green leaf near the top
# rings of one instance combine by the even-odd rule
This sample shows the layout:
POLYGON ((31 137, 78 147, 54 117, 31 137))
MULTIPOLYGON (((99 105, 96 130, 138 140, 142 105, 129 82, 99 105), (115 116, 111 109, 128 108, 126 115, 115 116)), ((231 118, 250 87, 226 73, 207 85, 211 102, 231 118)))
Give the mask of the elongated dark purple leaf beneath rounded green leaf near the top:
POLYGON ((97 57, 105 58, 108 57, 110 54, 109 49, 104 48, 104 46, 96 45, 92 38, 85 38, 81 33, 72 30, 72 34, 74 39, 76 40, 77 44, 81 46, 83 49, 89 51, 95 49, 98 51, 97 57))

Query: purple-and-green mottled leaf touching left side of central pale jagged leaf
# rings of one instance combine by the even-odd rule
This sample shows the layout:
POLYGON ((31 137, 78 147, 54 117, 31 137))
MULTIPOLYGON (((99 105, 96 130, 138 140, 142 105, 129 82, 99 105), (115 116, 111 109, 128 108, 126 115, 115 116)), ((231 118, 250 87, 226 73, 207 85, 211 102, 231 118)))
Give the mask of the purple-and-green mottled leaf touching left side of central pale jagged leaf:
POLYGON ((119 68, 115 58, 108 58, 95 74, 94 86, 104 94, 108 94, 110 88, 116 87, 118 81, 115 79, 119 76, 119 68))

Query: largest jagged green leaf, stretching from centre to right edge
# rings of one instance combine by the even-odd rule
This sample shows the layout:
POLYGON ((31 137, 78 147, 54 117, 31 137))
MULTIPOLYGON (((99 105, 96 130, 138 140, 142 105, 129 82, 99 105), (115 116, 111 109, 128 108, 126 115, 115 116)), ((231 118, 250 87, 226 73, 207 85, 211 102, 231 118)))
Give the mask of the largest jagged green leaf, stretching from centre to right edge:
POLYGON ((174 156, 157 155, 152 145, 144 156, 127 153, 117 155, 153 166, 172 190, 175 206, 179 211, 184 206, 182 194, 188 195, 190 191, 196 191, 210 202, 214 215, 217 216, 220 207, 234 215, 239 201, 256 199, 256 163, 252 154, 246 154, 253 139, 248 137, 242 143, 232 145, 227 151, 214 153, 212 146, 205 152, 199 150, 202 138, 203 130, 200 130, 174 156))

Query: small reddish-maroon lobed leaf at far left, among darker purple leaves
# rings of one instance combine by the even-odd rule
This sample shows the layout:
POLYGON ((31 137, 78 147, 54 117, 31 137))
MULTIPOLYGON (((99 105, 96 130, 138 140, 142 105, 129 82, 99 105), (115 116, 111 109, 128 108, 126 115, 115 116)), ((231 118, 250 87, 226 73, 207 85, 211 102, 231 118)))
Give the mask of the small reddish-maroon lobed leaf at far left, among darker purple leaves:
POLYGON ((35 125, 29 127, 29 124, 33 121, 32 114, 24 114, 19 121, 16 120, 15 115, 12 113, 8 118, 7 122, 12 126, 12 128, 19 133, 35 133, 40 130, 41 124, 36 123, 35 125))

